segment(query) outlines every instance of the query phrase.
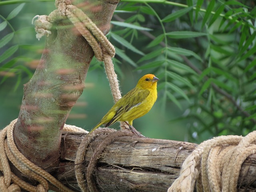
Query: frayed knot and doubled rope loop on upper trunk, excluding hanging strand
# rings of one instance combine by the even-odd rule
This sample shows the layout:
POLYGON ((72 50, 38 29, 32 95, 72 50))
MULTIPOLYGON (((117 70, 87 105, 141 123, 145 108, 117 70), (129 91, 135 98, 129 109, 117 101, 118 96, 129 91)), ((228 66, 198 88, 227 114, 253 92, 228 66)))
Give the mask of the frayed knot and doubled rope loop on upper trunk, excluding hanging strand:
POLYGON ((90 20, 90 18, 79 8, 71 4, 70 0, 56 0, 56 10, 49 14, 49 16, 35 16, 34 25, 36 29, 36 38, 40 40, 42 36, 49 36, 52 23, 56 20, 68 18, 72 24, 77 28, 80 34, 87 40, 94 51, 95 57, 99 61, 104 61, 101 46, 107 51, 110 57, 114 57, 115 48, 108 41, 102 31, 90 20))

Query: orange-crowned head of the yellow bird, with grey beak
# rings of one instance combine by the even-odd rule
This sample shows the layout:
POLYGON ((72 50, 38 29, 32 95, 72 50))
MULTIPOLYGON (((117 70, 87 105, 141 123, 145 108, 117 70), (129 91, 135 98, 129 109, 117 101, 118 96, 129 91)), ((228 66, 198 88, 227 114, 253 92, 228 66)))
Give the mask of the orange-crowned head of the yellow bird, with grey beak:
POLYGON ((156 89, 157 81, 159 79, 153 74, 146 74, 138 81, 136 87, 140 87, 142 89, 156 89))

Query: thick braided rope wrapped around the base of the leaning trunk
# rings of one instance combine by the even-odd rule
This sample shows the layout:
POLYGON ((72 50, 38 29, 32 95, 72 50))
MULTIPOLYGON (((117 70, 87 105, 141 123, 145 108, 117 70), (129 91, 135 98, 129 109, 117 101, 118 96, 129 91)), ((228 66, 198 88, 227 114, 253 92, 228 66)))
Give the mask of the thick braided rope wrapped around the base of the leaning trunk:
MULTIPOLYGON (((6 128, 0 131, 0 170, 3 173, 2 176, 0 176, 0 191, 18 192, 20 188, 22 188, 29 192, 46 192, 48 191, 48 182, 50 182, 63 192, 72 192, 72 190, 64 186, 48 172, 30 162, 20 153, 13 138, 13 130, 16 122, 17 119, 13 120, 6 128), (8 160, 12 162, 22 174, 38 181, 38 186, 28 184, 12 173, 8 160)), ((70 125, 65 125, 63 130, 69 132, 86 132, 82 128, 70 125)))

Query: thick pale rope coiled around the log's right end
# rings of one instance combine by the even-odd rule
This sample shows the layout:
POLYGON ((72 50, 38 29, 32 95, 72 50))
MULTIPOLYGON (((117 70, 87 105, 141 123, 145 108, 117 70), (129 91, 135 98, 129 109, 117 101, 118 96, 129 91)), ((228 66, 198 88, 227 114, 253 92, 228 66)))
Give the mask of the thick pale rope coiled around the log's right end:
POLYGON ((202 142, 184 161, 168 192, 236 192, 242 163, 256 152, 256 131, 202 142))

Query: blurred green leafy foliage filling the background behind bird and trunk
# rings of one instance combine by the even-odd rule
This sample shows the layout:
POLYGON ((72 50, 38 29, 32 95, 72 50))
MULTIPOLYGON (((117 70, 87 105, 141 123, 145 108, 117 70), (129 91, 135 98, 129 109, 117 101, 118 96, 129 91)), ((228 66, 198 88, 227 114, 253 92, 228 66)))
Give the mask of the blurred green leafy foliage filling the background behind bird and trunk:
MULTIPOLYGON (((53 1, 11 2, 0 2, 0 128, 18 117, 22 84, 44 48, 32 18, 55 9, 53 1)), ((134 127, 190 142, 254 130, 255 18, 253 0, 122 0, 107 35, 120 88, 125 94, 147 73, 160 78, 156 104, 134 127)), ((67 124, 90 130, 112 105, 104 66, 93 59, 67 124)))

